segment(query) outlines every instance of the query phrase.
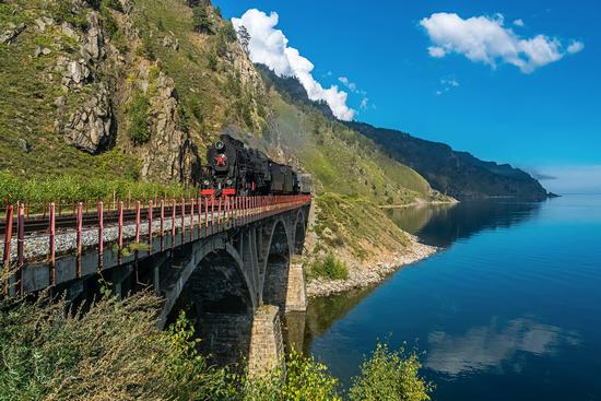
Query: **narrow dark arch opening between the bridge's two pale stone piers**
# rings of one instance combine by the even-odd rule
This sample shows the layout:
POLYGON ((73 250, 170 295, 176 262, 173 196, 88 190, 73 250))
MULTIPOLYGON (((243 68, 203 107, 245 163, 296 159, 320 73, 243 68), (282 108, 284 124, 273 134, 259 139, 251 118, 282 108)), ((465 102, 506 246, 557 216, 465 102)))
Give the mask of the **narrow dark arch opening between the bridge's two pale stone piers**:
POLYGON ((263 304, 275 305, 283 311, 286 304, 292 255, 290 235, 284 221, 275 221, 269 244, 261 299, 263 304))

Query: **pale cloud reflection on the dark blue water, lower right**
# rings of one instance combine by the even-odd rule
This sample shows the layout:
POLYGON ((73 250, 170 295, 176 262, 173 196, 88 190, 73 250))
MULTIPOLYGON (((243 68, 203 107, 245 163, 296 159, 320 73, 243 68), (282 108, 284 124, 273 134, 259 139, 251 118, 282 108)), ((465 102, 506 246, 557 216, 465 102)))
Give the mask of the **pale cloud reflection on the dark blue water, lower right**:
POLYGON ((521 369, 516 354, 553 354, 564 344, 577 345, 578 334, 556 326, 542 325, 532 318, 518 318, 502 323, 493 318, 488 326, 474 327, 464 334, 434 331, 428 335, 429 351, 425 366, 450 376, 496 369, 504 362, 521 369))

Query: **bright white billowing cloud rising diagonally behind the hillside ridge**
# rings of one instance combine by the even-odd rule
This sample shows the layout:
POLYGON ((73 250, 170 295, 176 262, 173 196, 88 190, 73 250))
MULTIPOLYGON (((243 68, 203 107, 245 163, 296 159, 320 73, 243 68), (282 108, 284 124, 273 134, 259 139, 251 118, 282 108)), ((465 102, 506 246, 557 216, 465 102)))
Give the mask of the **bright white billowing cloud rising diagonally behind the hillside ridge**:
POLYGON ((314 64, 297 49, 288 47, 283 32, 275 28, 278 21, 278 13, 267 15, 257 9, 248 10, 239 19, 232 19, 236 30, 244 25, 250 35, 248 50, 252 62, 268 66, 280 76, 296 76, 311 101, 323 101, 335 117, 352 120, 356 111, 346 105, 347 94, 337 85, 325 89, 315 80, 311 73, 314 64))

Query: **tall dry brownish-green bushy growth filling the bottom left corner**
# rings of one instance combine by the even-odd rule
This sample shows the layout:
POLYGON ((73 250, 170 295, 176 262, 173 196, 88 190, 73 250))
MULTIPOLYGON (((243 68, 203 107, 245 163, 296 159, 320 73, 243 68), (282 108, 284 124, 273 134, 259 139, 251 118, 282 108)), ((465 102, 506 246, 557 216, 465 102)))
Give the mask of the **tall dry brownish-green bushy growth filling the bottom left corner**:
POLYGON ((84 314, 64 299, 0 303, 0 399, 226 399, 227 371, 196 351, 181 315, 155 328, 160 298, 105 295, 84 314))

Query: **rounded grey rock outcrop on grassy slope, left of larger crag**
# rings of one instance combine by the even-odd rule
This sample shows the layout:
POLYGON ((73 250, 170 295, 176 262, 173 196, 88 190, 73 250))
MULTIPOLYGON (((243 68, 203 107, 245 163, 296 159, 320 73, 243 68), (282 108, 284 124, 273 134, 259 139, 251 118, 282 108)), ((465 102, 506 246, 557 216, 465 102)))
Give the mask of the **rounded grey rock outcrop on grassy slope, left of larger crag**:
POLYGON ((111 128, 110 95, 106 85, 101 83, 98 91, 69 117, 63 137, 72 146, 98 153, 111 142, 111 128))

